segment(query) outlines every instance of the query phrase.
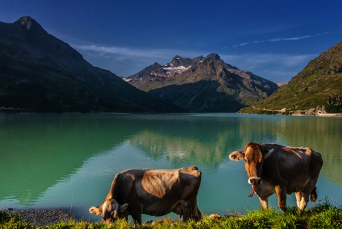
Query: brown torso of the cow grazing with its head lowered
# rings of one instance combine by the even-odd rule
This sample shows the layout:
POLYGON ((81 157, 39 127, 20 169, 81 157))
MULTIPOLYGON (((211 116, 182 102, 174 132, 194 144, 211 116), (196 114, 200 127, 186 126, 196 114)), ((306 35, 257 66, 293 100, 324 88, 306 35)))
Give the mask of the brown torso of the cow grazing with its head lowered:
POLYGON ((181 169, 130 169, 118 173, 119 202, 176 201, 197 195, 201 172, 197 167, 181 169))

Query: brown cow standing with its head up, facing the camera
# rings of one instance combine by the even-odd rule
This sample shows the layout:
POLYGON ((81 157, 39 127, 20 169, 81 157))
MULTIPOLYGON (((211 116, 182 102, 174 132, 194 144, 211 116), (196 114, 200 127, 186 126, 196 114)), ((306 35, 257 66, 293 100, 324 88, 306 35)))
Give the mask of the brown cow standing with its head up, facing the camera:
POLYGON ((297 206, 304 210, 308 197, 316 202, 316 182, 323 165, 321 154, 305 147, 249 143, 241 152, 229 155, 231 160, 245 159, 248 183, 252 184, 261 208, 267 208, 267 197, 276 193, 279 208, 286 211, 286 194, 295 193, 297 206))

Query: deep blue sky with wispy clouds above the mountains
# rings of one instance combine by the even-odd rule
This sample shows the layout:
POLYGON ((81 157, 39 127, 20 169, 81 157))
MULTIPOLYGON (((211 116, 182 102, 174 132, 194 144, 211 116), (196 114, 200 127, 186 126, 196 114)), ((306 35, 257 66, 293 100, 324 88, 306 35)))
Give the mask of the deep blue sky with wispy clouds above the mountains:
POLYGON ((21 16, 119 76, 175 55, 214 52, 239 69, 285 82, 342 41, 341 0, 0 0, 0 21, 21 16))

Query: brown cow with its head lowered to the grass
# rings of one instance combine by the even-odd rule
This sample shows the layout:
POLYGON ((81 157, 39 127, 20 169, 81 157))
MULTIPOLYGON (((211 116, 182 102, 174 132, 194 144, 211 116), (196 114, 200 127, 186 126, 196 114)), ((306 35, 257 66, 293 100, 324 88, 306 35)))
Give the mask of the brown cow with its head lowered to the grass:
POLYGON ((201 172, 197 167, 181 169, 131 169, 116 174, 105 202, 92 207, 90 213, 109 224, 116 217, 131 215, 142 224, 142 214, 162 216, 174 212, 187 222, 200 220, 197 193, 201 172))

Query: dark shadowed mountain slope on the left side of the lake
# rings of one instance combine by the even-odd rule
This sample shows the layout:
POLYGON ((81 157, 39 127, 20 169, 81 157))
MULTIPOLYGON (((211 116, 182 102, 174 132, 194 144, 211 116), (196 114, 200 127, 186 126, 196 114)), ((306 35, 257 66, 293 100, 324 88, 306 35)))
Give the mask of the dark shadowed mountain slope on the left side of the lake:
POLYGON ((93 67, 29 16, 0 22, 0 108, 0 112, 181 110, 93 67))

